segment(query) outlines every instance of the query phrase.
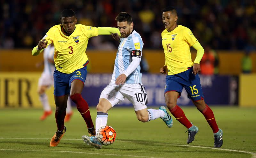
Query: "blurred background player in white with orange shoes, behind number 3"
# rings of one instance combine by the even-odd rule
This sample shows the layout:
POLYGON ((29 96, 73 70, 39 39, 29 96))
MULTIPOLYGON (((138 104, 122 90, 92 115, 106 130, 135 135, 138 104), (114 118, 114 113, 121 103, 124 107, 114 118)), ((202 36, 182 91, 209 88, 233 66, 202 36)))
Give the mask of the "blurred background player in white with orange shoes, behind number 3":
MULTIPOLYGON (((39 99, 43 105, 44 108, 44 114, 40 117, 40 120, 45 120, 47 116, 52 114, 52 109, 48 101, 48 97, 45 94, 45 91, 53 86, 53 72, 55 69, 54 61, 54 46, 53 44, 49 45, 47 49, 44 50, 44 61, 41 63, 37 63, 36 67, 40 67, 44 64, 44 71, 41 74, 41 77, 38 81, 38 94, 39 99)), ((71 99, 68 97, 67 102, 67 109, 66 109, 67 115, 65 116, 65 122, 68 122, 70 120, 71 115, 73 114, 71 109, 71 99)))

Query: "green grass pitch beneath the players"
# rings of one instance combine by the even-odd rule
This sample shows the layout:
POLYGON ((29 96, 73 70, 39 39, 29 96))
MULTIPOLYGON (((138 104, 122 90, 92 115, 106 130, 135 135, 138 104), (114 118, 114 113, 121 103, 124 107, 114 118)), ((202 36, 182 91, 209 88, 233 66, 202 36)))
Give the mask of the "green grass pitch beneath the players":
MULTIPOLYGON (((151 108, 151 107, 150 107, 151 108)), ((155 107, 158 108, 158 107, 155 107)), ((74 115, 65 123, 67 132, 57 147, 49 143, 57 130, 54 113, 39 121, 43 111, 38 109, 0 109, 1 157, 252 157, 256 154, 256 108, 211 106, 219 128, 223 130, 223 146, 213 148, 212 129, 196 107, 182 107, 188 119, 199 132, 195 140, 186 143, 188 133, 174 119, 168 128, 162 119, 142 123, 133 108, 114 107, 108 113, 107 125, 116 130, 116 141, 96 150, 84 144, 82 135, 88 135, 81 115, 73 108, 74 115), (231 150, 245 151, 236 152, 231 150), (254 153, 254 154, 250 154, 254 153)), ((96 109, 90 108, 95 122, 96 109)))

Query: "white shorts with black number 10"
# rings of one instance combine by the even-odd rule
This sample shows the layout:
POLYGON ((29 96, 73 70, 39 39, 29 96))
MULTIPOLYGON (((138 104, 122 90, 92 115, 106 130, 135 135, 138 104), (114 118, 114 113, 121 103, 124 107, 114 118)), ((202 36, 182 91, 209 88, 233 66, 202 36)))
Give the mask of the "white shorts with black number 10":
POLYGON ((133 105, 135 111, 147 108, 148 96, 144 91, 145 87, 142 83, 116 85, 109 83, 101 92, 100 98, 107 99, 114 107, 127 98, 133 105))

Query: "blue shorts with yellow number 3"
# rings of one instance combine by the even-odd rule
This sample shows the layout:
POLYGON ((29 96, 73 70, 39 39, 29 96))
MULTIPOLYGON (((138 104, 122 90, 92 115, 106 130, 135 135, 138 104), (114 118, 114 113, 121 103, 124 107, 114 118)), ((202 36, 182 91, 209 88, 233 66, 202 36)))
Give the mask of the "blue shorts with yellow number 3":
POLYGON ((87 66, 80 68, 71 74, 62 73, 56 70, 55 68, 53 73, 53 78, 54 78, 53 94, 56 97, 70 94, 71 83, 74 80, 80 80, 84 83, 86 79, 86 75, 87 75, 87 66))

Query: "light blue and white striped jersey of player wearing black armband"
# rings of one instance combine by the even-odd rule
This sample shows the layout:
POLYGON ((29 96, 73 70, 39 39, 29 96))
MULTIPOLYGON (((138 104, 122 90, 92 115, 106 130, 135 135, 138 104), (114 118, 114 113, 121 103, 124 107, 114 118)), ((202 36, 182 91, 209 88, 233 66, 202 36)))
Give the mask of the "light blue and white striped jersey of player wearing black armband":
MULTIPOLYGON (((115 83, 116 78, 123 74, 132 62, 132 50, 140 50, 142 56, 142 47, 142 38, 135 30, 133 30, 128 37, 121 40, 116 53, 115 67, 111 83, 115 83)), ((142 74, 140 73, 139 65, 129 76, 127 76, 125 84, 141 83, 141 76, 142 74)))

